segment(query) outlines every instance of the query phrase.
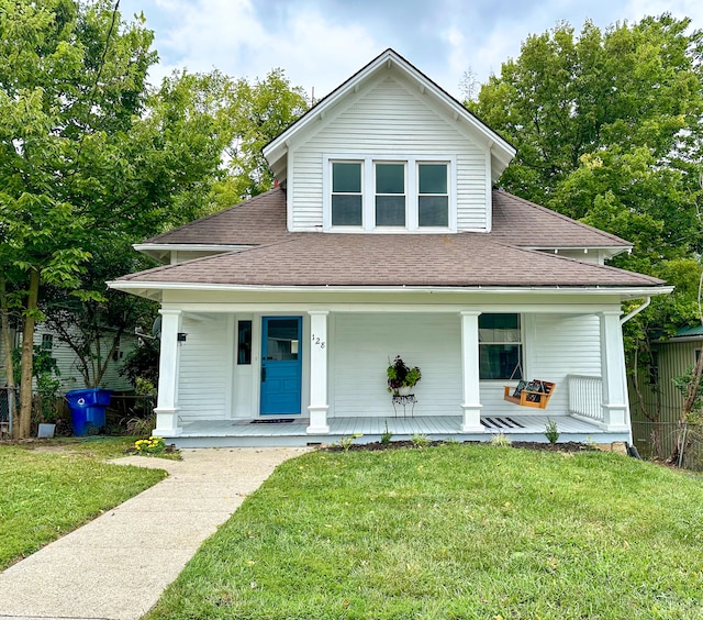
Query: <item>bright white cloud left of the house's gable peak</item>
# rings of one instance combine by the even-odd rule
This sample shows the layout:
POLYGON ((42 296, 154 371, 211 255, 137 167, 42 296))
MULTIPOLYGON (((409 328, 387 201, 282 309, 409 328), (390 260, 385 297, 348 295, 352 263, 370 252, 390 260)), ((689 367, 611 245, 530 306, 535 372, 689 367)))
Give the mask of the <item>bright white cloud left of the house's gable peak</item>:
POLYGON ((320 99, 383 49, 358 24, 332 24, 312 5, 282 23, 274 15, 264 23, 252 0, 158 0, 158 7, 174 25, 156 30, 163 60, 153 81, 181 67, 248 79, 281 67, 291 84, 309 93, 314 88, 320 99))

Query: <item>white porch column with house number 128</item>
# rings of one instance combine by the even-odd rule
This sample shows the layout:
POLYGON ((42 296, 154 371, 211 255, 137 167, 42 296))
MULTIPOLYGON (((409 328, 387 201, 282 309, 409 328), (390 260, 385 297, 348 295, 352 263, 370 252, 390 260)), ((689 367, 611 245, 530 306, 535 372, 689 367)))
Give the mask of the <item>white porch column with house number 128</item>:
POLYGON ((327 315, 328 310, 309 310, 310 314, 310 434, 326 434, 327 424, 327 315))

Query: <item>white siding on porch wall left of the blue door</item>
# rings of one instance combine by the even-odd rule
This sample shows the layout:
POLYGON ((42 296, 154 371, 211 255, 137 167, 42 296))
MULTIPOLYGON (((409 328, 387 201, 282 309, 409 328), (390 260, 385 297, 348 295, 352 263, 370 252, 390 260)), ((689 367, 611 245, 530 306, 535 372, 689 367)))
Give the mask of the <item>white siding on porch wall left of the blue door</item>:
POLYGON ((234 342, 226 314, 196 321, 183 318, 187 340, 180 344, 179 417, 221 420, 230 417, 234 342))

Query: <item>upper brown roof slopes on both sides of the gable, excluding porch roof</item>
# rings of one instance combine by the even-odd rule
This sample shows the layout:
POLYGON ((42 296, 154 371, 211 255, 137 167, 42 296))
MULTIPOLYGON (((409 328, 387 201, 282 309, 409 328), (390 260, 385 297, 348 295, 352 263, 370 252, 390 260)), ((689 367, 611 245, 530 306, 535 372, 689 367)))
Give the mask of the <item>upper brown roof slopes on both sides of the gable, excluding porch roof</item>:
MULTIPOLYGON (((272 189, 154 236, 144 244, 261 245, 289 236, 286 193, 272 189)), ((490 236, 524 247, 631 247, 632 244, 505 191, 493 191, 490 236)))

